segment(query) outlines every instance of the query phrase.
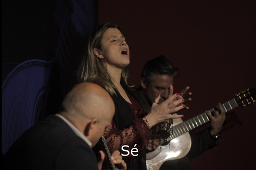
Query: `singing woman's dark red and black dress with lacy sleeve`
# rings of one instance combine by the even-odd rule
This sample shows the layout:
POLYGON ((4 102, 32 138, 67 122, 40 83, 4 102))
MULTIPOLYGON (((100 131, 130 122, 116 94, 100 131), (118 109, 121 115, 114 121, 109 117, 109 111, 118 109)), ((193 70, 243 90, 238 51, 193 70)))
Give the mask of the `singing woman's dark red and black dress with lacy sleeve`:
MULTIPOLYGON (((100 82, 93 83, 105 89, 100 82)), ((124 84, 122 85, 124 86, 124 84)), ((142 120, 142 117, 144 117, 146 113, 143 111, 138 101, 130 94, 131 91, 129 91, 127 87, 124 87, 124 89, 132 104, 120 97, 121 95, 118 91, 117 96, 111 96, 114 100, 116 111, 111 125, 104 133, 104 137, 111 153, 115 150, 119 150, 121 154, 126 155, 127 152, 122 150, 122 146, 129 146, 129 148, 126 147, 125 149, 129 150, 130 154, 123 157, 127 164, 127 169, 146 169, 146 146, 150 138, 148 123, 142 120), (124 115, 126 116, 122 117, 124 115), (124 126, 124 124, 127 125, 125 125, 124 128, 120 128, 124 126), (137 153, 138 156, 131 155, 131 150, 134 146, 139 151, 137 153)))

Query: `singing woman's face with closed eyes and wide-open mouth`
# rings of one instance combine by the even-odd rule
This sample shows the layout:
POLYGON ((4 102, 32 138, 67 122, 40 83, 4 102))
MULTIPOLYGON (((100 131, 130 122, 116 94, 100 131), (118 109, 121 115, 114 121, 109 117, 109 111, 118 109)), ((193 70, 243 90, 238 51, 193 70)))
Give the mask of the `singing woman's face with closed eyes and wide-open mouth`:
POLYGON ((101 45, 100 54, 103 56, 103 62, 108 70, 111 68, 123 69, 130 64, 129 46, 118 29, 107 29, 102 36, 101 45))

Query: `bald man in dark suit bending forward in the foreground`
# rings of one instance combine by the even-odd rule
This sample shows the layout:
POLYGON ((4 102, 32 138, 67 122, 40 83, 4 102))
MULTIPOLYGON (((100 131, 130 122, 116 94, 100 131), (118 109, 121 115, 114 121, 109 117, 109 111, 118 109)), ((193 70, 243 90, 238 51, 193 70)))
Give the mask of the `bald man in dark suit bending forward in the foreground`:
MULTIPOLYGON (((4 156, 7 169, 101 169, 91 149, 110 125, 113 100, 97 84, 77 84, 62 101, 60 112, 31 127, 4 156)), ((101 158, 103 158, 101 152, 101 158)), ((126 164, 114 152, 120 169, 126 164)))

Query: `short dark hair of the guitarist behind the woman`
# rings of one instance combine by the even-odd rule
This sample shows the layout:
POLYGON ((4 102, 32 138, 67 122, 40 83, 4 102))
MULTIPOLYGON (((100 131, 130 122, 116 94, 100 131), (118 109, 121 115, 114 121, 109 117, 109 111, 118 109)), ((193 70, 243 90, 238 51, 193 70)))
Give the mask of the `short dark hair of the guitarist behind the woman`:
POLYGON ((179 69, 174 66, 167 58, 163 55, 155 57, 149 60, 143 67, 141 78, 145 78, 147 83, 154 81, 154 74, 167 74, 170 77, 176 77, 179 69))

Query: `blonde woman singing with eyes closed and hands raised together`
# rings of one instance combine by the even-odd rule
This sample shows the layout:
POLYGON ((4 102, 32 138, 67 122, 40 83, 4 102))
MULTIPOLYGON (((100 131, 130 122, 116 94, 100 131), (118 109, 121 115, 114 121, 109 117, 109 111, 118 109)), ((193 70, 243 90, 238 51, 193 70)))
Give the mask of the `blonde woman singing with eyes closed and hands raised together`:
POLYGON ((78 79, 81 82, 99 84, 114 100, 115 115, 104 134, 110 152, 119 150, 123 154, 127 169, 147 169, 146 147, 150 128, 170 118, 183 117, 172 114, 188 107, 182 105, 182 98, 177 99, 179 94, 169 95, 166 101, 158 105, 158 95, 151 111, 143 112, 139 101, 134 98, 133 91, 127 85, 129 64, 130 50, 121 28, 118 25, 103 24, 88 37, 82 63, 78 68, 78 79), (124 149, 129 150, 129 155, 122 146, 126 146, 124 149), (132 155, 132 148, 137 148, 138 152, 132 155), (134 156, 137 154, 138 156, 134 156))

